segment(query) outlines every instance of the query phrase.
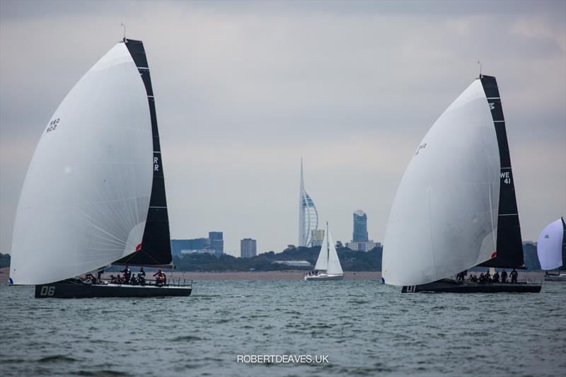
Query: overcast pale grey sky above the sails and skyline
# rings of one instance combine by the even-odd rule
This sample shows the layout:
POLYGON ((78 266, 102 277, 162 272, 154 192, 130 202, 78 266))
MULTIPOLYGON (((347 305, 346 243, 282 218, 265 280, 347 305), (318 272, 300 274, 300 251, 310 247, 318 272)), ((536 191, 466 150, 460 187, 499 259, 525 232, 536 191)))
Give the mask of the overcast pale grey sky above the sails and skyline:
MULTIPOLYGON (((566 2, 0 2, 0 250, 42 130, 122 37, 151 69, 172 238, 297 243, 299 161, 321 224, 382 241, 412 153, 497 77, 524 240, 566 212, 566 2)), ((462 172, 465 174, 465 172, 462 172)), ((408 236, 410 229, 408 229, 408 236)))

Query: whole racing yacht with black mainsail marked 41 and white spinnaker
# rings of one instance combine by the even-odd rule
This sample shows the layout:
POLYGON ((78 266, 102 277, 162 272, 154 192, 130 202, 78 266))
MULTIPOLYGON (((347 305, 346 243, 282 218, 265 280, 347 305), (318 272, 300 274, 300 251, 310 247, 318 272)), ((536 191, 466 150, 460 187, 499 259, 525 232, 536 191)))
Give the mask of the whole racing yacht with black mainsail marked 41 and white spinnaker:
POLYGON ((395 195, 382 281, 402 292, 540 291, 540 284, 475 284, 474 266, 521 268, 524 256, 497 81, 480 75, 434 122, 395 195))

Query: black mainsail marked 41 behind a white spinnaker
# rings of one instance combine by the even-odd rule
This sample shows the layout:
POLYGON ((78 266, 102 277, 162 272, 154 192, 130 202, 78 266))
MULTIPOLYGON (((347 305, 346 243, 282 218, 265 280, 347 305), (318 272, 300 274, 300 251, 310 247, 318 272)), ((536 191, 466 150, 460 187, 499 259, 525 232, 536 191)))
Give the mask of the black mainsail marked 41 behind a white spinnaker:
POLYGON ((503 117, 503 108, 497 80, 494 76, 480 76, 480 80, 490 105, 497 144, 501 173, 499 174, 499 214, 497 216, 497 247, 494 258, 483 262, 482 267, 520 268, 524 267, 521 225, 515 196, 515 184, 509 156, 509 143, 503 117))

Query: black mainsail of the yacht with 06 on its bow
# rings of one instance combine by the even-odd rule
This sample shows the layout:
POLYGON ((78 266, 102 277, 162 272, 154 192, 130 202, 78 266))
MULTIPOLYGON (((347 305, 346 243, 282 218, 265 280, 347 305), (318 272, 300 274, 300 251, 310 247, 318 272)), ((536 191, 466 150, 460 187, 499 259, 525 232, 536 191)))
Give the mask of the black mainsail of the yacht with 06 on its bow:
POLYGON ((129 53, 139 70, 147 92, 149 113, 151 115, 151 132, 154 137, 154 181, 151 187, 146 227, 141 245, 136 253, 127 255, 113 264, 136 266, 171 267, 171 237, 169 235, 169 216, 165 195, 165 179, 163 177, 163 160, 159 144, 157 116, 155 110, 154 90, 151 87, 151 76, 147 64, 144 44, 141 40, 124 39, 129 53))

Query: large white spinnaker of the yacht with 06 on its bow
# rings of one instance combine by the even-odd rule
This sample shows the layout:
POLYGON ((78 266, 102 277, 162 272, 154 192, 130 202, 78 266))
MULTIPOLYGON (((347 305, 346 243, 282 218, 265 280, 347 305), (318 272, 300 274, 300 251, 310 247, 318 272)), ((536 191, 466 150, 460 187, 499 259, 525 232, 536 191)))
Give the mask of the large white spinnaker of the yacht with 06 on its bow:
POLYGON ((14 224, 14 284, 57 282, 133 253, 152 149, 144 83, 118 43, 76 83, 37 144, 14 224))

